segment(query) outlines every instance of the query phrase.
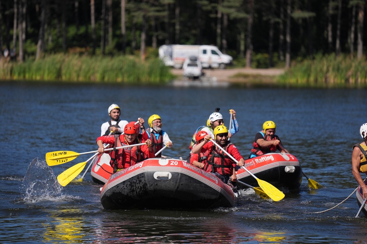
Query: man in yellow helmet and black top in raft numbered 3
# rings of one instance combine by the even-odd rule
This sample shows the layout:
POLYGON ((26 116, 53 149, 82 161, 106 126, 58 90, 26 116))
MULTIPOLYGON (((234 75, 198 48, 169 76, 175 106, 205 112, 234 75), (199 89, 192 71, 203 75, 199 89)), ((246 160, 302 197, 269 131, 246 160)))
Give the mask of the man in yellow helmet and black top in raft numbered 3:
POLYGON ((279 150, 281 153, 289 153, 284 149, 279 136, 275 135, 276 125, 273 121, 265 121, 262 125, 262 131, 255 135, 254 143, 249 158, 257 157, 266 153, 274 153, 279 150))

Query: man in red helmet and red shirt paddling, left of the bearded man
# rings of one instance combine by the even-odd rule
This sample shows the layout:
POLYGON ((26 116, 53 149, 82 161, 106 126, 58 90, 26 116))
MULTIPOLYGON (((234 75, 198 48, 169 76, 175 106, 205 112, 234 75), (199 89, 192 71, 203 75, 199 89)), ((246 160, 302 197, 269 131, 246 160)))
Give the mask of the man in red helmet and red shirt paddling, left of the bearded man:
POLYGON ((134 122, 130 122, 125 125, 124 133, 124 135, 99 136, 97 138, 99 153, 103 153, 105 151, 103 143, 112 144, 112 147, 121 147, 145 142, 144 145, 109 151, 111 157, 110 165, 113 168, 114 173, 120 169, 125 169, 131 165, 141 162, 146 158, 155 157, 152 148, 152 141, 150 139, 140 140, 137 138, 138 130, 134 122))

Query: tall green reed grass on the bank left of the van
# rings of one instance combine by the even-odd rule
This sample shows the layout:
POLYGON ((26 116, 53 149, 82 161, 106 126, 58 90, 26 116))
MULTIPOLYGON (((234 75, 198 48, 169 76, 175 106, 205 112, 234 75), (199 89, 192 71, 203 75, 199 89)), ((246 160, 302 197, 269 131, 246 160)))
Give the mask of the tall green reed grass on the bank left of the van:
POLYGON ((159 84, 174 76, 158 58, 141 62, 133 56, 80 56, 53 54, 43 59, 30 57, 23 63, 3 62, 1 80, 42 80, 159 84))

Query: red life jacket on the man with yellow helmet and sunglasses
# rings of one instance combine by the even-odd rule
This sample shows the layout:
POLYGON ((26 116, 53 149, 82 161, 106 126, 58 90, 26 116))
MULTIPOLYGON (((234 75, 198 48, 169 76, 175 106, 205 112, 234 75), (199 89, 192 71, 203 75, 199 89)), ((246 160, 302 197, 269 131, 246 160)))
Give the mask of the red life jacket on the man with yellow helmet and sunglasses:
MULTIPOLYGON (((227 151, 228 147, 233 143, 228 143, 228 145, 224 148, 227 151)), ((213 144, 208 159, 204 165, 204 170, 207 172, 217 172, 222 176, 232 175, 233 174, 233 160, 228 157, 227 154, 222 151, 222 153, 218 153, 218 148, 213 144)))

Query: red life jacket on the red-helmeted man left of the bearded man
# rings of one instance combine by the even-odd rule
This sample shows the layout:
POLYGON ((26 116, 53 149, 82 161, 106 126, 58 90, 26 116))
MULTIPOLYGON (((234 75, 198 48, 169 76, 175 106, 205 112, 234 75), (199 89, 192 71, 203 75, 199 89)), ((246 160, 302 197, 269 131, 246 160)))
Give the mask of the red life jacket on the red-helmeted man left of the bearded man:
MULTIPOLYGON (((139 144, 140 142, 141 141, 138 138, 135 138, 135 141, 132 144, 139 144)), ((124 135, 115 135, 115 147, 121 146, 128 146, 128 144, 125 142, 124 135), (121 142, 121 139, 123 139, 123 142, 121 142)), ((113 168, 114 173, 117 169, 126 169, 131 165, 144 160, 139 146, 112 150, 109 155, 111 157, 110 165, 113 168)))

